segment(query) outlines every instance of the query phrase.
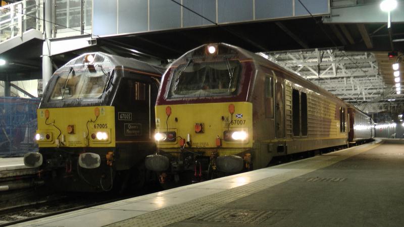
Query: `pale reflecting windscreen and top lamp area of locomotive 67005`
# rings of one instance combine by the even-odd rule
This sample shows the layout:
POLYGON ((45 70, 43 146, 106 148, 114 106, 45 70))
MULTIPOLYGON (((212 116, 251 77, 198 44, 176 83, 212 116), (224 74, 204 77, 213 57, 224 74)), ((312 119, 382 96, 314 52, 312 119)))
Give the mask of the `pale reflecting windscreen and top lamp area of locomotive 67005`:
MULTIPOLYGON (((84 102, 107 104, 101 100, 104 93, 111 93, 114 66, 106 56, 90 53, 69 62, 54 74, 42 105, 57 107, 81 106, 84 102)), ((105 96, 105 95, 104 95, 105 96)))

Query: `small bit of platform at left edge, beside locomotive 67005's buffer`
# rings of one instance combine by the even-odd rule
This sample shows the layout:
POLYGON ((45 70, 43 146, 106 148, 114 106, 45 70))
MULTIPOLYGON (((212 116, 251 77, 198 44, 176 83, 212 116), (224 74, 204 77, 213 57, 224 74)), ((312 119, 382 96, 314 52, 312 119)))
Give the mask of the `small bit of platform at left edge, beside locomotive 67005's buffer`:
POLYGON ((38 172, 38 168, 24 165, 23 157, 0 158, 0 179, 32 175, 38 172))

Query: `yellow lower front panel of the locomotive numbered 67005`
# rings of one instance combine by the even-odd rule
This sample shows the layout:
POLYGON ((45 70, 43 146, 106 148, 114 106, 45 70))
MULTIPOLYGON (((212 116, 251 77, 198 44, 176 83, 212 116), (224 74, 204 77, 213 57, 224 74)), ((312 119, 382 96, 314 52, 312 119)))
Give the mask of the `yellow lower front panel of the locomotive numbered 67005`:
POLYGON ((115 147, 114 106, 38 109, 37 116, 39 148, 115 147))

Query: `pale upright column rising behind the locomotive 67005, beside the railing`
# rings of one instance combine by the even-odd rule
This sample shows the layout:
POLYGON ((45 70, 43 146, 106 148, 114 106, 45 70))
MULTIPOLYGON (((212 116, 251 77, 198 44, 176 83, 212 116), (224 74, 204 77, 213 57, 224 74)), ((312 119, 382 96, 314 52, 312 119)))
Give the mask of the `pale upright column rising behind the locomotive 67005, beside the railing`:
POLYGON ((43 0, 44 4, 44 34, 45 40, 42 46, 42 90, 45 90, 46 84, 52 76, 52 61, 51 61, 51 41, 52 37, 52 0, 43 0))

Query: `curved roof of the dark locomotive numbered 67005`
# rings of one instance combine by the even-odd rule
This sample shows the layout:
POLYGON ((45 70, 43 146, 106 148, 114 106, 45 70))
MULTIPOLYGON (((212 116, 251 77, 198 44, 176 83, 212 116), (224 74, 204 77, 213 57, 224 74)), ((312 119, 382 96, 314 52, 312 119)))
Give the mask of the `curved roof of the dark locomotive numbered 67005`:
MULTIPOLYGON (((95 56, 94 64, 109 62, 114 67, 131 68, 131 69, 136 69, 136 70, 147 72, 147 73, 154 73, 154 74, 157 74, 160 76, 165 71, 165 68, 163 68, 161 66, 154 66, 149 63, 145 63, 145 62, 142 62, 142 61, 139 61, 136 59, 124 58, 122 56, 108 54, 108 53, 104 53, 104 52, 83 53, 80 56, 78 56, 77 58, 70 60, 59 70, 65 68, 65 67, 82 66, 85 63, 86 56, 90 55, 90 54, 95 56)), ((57 71, 59 71, 59 70, 57 70, 57 71)))

